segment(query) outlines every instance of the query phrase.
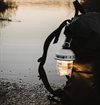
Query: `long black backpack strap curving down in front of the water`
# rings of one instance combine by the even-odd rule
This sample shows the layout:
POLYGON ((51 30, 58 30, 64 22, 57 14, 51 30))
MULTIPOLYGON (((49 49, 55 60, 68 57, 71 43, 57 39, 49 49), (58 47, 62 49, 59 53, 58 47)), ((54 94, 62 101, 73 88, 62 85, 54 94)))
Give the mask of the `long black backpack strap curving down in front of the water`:
POLYGON ((45 69, 44 69, 44 64, 46 61, 46 57, 47 57, 47 51, 48 48, 50 46, 51 41, 54 39, 53 44, 57 43, 59 40, 59 36, 61 33, 62 28, 67 24, 68 20, 65 20, 64 22, 62 22, 62 24, 55 30, 53 31, 45 40, 44 46, 43 46, 43 54, 42 57, 38 59, 38 62, 40 62, 39 64, 39 68, 38 68, 38 72, 39 72, 39 79, 42 80, 45 88, 54 96, 59 97, 61 100, 65 100, 65 97, 70 97, 65 95, 64 91, 62 89, 57 89, 57 90, 53 90, 52 87, 49 84, 45 69))

